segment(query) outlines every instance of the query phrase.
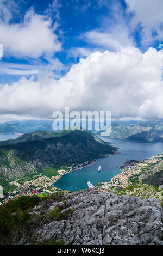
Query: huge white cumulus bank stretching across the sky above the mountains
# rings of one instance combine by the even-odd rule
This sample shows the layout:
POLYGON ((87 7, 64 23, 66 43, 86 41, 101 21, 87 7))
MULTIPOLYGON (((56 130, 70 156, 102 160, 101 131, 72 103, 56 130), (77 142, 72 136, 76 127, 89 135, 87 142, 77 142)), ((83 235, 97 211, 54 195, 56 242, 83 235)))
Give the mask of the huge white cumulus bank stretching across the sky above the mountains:
POLYGON ((108 110, 112 117, 163 118, 163 51, 94 52, 65 77, 22 77, 0 89, 0 113, 51 117, 53 111, 108 110))

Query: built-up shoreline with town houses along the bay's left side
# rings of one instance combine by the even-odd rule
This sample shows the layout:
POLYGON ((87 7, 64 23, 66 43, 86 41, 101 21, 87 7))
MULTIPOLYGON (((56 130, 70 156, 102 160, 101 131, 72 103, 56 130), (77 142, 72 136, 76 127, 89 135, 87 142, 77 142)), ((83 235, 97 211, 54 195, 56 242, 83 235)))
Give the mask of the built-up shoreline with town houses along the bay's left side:
MULTIPOLYGON (((111 145, 111 143, 109 143, 111 145)), ((3 203, 7 202, 9 199, 14 199, 16 197, 28 195, 31 196, 33 191, 35 191, 35 194, 41 194, 41 193, 53 193, 55 191, 60 190, 60 188, 55 187, 55 183, 57 180, 61 179, 62 175, 65 175, 67 173, 71 173, 74 170, 82 169, 86 166, 91 166, 93 163, 95 163, 98 159, 109 157, 110 155, 116 155, 120 154, 118 152, 117 147, 114 147, 111 145, 112 150, 108 148, 109 153, 106 154, 99 154, 96 159, 88 160, 83 163, 77 163, 72 164, 72 166, 62 166, 59 168, 55 168, 57 170, 57 173, 53 176, 53 172, 51 175, 43 174, 43 172, 40 173, 37 172, 37 170, 34 170, 32 173, 32 176, 26 177, 23 181, 21 179, 16 179, 14 181, 10 181, 8 184, 8 187, 5 187, 5 193, 4 193, 4 201, 3 203), (62 168, 62 169, 61 169, 62 168), (65 168, 65 169, 64 169, 65 168)), ((2 202, 2 200, 1 200, 2 202)))

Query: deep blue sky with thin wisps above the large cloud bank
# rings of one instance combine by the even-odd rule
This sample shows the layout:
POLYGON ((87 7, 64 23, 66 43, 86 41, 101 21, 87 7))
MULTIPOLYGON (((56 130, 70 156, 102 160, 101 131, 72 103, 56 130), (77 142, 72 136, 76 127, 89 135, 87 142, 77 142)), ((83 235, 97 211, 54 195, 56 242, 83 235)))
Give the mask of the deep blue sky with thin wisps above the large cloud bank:
MULTIPOLYGON (((65 74, 73 63, 79 62, 80 57, 85 58, 93 51, 98 50, 102 52, 104 50, 117 50, 114 45, 114 38, 112 43, 109 42, 109 40, 108 42, 106 40, 106 42, 102 43, 100 40, 96 41, 93 35, 93 38, 91 38, 91 35, 89 36, 91 31, 98 31, 101 32, 102 35, 103 33, 109 35, 111 34, 111 29, 114 29, 115 26, 120 26, 122 22, 124 27, 126 26, 126 28, 129 29, 129 31, 126 33, 127 36, 130 36, 130 40, 124 42, 124 45, 137 46, 141 49, 141 51, 145 51, 149 46, 149 44, 145 46, 141 44, 142 28, 140 26, 138 26, 135 31, 131 31, 129 28, 128 24, 133 15, 131 13, 126 13, 127 4, 123 0, 27 0, 2 1, 2 3, 4 4, 4 7, 8 9, 11 15, 11 19, 9 20, 10 25, 23 24, 24 16, 29 11, 33 11, 35 15, 41 15, 42 17, 44 16, 45 20, 52 20, 51 28, 56 26, 54 33, 57 35, 58 41, 61 45, 61 50, 55 52, 54 49, 54 51, 51 52, 51 56, 48 56, 48 58, 57 58, 65 65, 63 70, 57 72, 56 77, 65 74), (13 2, 15 4, 15 8, 14 5, 12 5, 13 2)), ((4 21, 3 16, 4 13, 2 12, 2 21, 4 21)), ((116 40, 118 40, 118 38, 116 38, 116 40)), ((150 42, 150 46, 155 45, 158 46, 157 40, 150 42)), ((26 75, 26 73, 26 76, 29 77, 31 75, 30 69, 32 67, 34 70, 32 69, 31 72, 32 74, 35 74, 34 71, 45 68, 45 66, 49 64, 46 53, 39 54, 39 56, 36 56, 36 58, 31 58, 30 52, 29 54, 18 54, 18 56, 15 56, 13 52, 8 53, 8 49, 5 47, 5 45, 3 47, 4 56, 1 60, 1 67, 3 66, 11 69, 11 74, 9 74, 10 70, 5 70, 5 72, 3 72, 3 68, 1 73, 1 83, 11 84, 12 82, 15 82, 21 78, 22 74, 26 75), (18 70, 20 70, 20 74, 18 74, 18 70)))

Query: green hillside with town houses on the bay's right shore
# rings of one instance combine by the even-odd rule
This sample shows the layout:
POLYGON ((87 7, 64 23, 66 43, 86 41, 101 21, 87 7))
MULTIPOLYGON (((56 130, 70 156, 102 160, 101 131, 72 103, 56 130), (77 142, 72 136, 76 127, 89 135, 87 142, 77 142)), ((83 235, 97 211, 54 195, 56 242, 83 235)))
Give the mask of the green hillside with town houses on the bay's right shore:
POLYGON ((101 182, 98 187, 117 196, 154 197, 163 206, 163 153, 146 160, 126 161, 122 168, 111 182, 101 182))

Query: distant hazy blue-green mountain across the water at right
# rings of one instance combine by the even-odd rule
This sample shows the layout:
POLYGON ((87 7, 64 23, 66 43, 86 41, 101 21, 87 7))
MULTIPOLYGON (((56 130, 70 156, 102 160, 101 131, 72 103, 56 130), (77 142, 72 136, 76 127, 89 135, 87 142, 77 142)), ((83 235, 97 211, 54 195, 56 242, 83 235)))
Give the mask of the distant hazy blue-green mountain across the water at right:
MULTIPOLYGON (((103 136, 103 132, 98 132, 103 136)), ((148 121, 139 124, 111 126, 110 138, 133 139, 137 141, 163 142, 163 122, 148 121)))

